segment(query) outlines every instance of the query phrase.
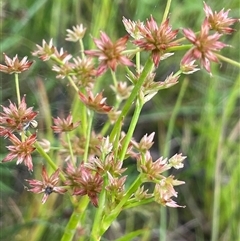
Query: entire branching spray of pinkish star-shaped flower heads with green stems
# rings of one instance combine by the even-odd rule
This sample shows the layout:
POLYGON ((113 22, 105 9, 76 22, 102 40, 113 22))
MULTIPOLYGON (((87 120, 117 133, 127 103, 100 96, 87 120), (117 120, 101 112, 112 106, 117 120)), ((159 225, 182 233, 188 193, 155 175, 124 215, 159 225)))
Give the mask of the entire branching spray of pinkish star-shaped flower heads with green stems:
MULTIPOLYGON (((230 26, 238 20, 228 18, 229 10, 213 12, 206 3, 204 12, 206 17, 200 31, 195 33, 191 29, 183 29, 182 39, 177 39, 179 30, 172 28, 170 17, 158 24, 150 16, 145 23, 124 17, 123 24, 128 35, 113 41, 101 31, 99 39, 93 38, 97 48, 94 50, 84 49, 82 40, 86 28, 82 24, 68 29, 66 40, 79 42, 80 56, 72 57, 63 48, 58 49, 53 39, 49 43, 43 40, 42 46, 37 45, 32 55, 42 61, 50 60, 56 78, 62 79, 63 83, 67 81, 66 85, 73 88, 73 92, 69 91, 74 95, 70 98, 74 99, 68 112, 71 114, 66 118, 61 115, 50 117, 49 122, 52 120, 52 123, 48 123, 48 131, 52 136, 38 141, 37 134, 31 133, 31 127, 37 127, 35 118, 38 112, 33 111, 33 107, 27 107, 26 96, 21 98, 19 84, 16 84, 18 104, 9 101, 8 107, 1 105, 0 136, 11 143, 6 145, 8 154, 2 162, 17 159, 17 164, 23 163, 32 172, 35 168, 33 153, 40 155, 48 166, 42 166, 41 181, 26 180, 30 186, 28 191, 42 193, 42 203, 51 193, 69 191, 74 196, 70 199, 73 205, 82 196, 87 196, 98 208, 97 217, 107 219, 102 229, 108 228, 112 217, 116 218, 121 210, 131 206, 155 201, 163 206, 184 207, 173 200, 177 197, 175 186, 184 184, 184 181, 166 173, 171 168, 183 168, 186 157, 180 153, 155 160, 150 151, 155 133, 144 135, 140 141, 134 139, 133 133, 144 104, 160 90, 178 84, 182 74, 192 74, 201 68, 210 73, 211 62, 219 63, 216 53, 228 46, 220 38, 233 33, 230 26), (184 41, 189 41, 190 47, 183 44, 184 41), (127 48, 129 42, 134 49, 127 48), (187 51, 179 70, 166 74, 164 81, 157 81, 157 67, 182 49, 187 51), (143 66, 140 64, 142 51, 149 53, 143 66), (118 79, 119 66, 126 68, 126 75, 121 77, 124 80, 118 79), (100 82, 108 76, 105 75, 107 71, 112 78, 109 85, 100 82), (102 86, 104 88, 100 89, 102 86), (109 98, 111 105, 107 104, 103 95, 106 88, 112 93, 109 98), (131 111, 133 115, 129 118, 128 130, 124 131, 126 116, 131 111), (95 125, 96 116, 102 118, 99 127, 95 125), (126 174, 128 160, 136 167, 136 178, 126 174), (48 175, 48 167, 54 171, 51 175, 48 175), (60 181, 63 186, 59 185, 60 181)), ((0 71, 15 73, 16 83, 18 74, 28 70, 33 63, 27 57, 22 60, 17 55, 13 59, 6 54, 4 57, 6 65, 0 64, 0 71)))

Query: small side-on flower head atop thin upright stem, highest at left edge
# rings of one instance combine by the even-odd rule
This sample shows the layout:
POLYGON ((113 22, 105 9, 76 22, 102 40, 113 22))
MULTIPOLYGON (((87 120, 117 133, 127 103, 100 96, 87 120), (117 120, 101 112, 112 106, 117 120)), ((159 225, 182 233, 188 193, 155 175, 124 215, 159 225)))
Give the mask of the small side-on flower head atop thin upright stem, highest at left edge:
POLYGON ((5 53, 3 53, 3 55, 6 65, 0 64, 0 71, 7 74, 22 73, 28 70, 33 64, 33 61, 27 60, 27 56, 25 56, 21 61, 19 61, 17 54, 13 59, 9 58, 5 53))

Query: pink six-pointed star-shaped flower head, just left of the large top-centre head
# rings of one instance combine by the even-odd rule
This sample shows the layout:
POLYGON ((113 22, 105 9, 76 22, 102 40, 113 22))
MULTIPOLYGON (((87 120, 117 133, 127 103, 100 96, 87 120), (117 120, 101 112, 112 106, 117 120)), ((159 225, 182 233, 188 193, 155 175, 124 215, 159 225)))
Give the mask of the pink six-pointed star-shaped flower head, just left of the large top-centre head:
POLYGON ((97 50, 86 50, 87 55, 98 57, 100 65, 97 73, 103 74, 108 68, 116 71, 117 65, 131 66, 133 63, 123 54, 126 49, 128 36, 118 39, 115 43, 107 36, 106 33, 100 33, 100 39, 94 39, 97 50))

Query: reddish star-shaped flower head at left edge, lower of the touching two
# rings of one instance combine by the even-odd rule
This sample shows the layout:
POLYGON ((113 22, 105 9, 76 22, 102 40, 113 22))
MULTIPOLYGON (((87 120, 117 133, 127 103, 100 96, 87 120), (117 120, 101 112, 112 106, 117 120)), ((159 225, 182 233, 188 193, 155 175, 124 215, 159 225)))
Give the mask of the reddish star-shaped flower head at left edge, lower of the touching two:
POLYGON ((19 140, 14 134, 8 134, 9 140, 13 145, 7 146, 10 153, 2 160, 2 162, 9 162, 17 158, 17 165, 24 162, 24 165, 28 167, 29 171, 33 171, 31 153, 35 150, 33 146, 36 142, 36 134, 33 134, 26 138, 26 140, 19 140))

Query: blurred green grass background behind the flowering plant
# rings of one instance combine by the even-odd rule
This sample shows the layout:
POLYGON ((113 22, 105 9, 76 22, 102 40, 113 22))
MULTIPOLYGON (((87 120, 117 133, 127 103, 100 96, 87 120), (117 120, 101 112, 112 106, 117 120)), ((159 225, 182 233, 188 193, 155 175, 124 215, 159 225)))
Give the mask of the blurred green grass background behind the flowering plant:
MULTIPOLYGON (((238 0, 209 0, 206 3, 216 11, 230 8, 231 17, 240 16, 238 0)), ((160 23, 165 4, 164 0, 1 0, 0 62, 4 61, 3 52, 10 57, 18 54, 20 58, 34 59, 33 67, 20 75, 20 84, 30 106, 40 110, 40 127, 44 127, 44 118, 47 118, 45 103, 39 97, 42 83, 52 115, 60 106, 63 112, 67 112, 71 98, 66 84, 56 79, 48 63, 31 56, 36 44, 41 45, 42 39, 49 42, 53 38, 58 49, 63 47, 77 56, 77 44, 65 41, 67 28, 83 23, 87 27, 85 48, 92 48, 94 45, 89 36, 98 37, 99 30, 105 31, 112 39, 126 34, 123 16, 145 21, 152 14, 160 23)), ((202 1, 172 1, 170 22, 173 29, 198 31, 203 18, 202 1)), ((237 31, 233 35, 223 38, 232 47, 225 48, 222 54, 239 62, 239 24, 234 28, 237 31)), ((179 52, 163 61, 156 79, 164 80, 176 71, 183 55, 184 52, 179 52)), ((170 155, 182 152, 188 157, 184 169, 174 173, 177 179, 186 182, 177 188, 177 202, 186 208, 167 209, 167 240, 240 240, 240 75, 237 67, 224 62, 221 66, 212 64, 212 72, 213 77, 203 70, 188 78, 182 77, 178 85, 160 91, 143 109, 135 132, 136 140, 145 133, 156 132, 152 150, 156 158, 166 148, 170 155), (186 90, 171 141, 166 142, 169 120, 183 84, 186 90), (217 237, 214 237, 213 224, 218 224, 214 226, 217 237)), ((13 76, 1 73, 0 83, 1 104, 7 104, 8 99, 15 101, 13 76)), ((5 155, 5 142, 1 139, 1 159, 5 155)), ((129 170, 131 168, 130 165, 129 170)), ((52 204, 53 210, 51 204, 42 207, 40 196, 24 190, 24 179, 31 174, 24 166, 16 166, 15 162, 1 164, 0 175, 0 240, 59 240, 71 213, 64 198, 52 204), (39 212, 41 217, 36 217, 34 213, 39 212), (44 230, 40 236, 35 236, 41 232, 36 227, 44 230)), ((143 227, 148 230, 145 239, 136 240, 159 240, 159 209, 157 204, 151 204, 124 212, 103 240, 115 240, 143 227)), ((86 216, 91 223, 91 218, 88 214, 86 216)))

